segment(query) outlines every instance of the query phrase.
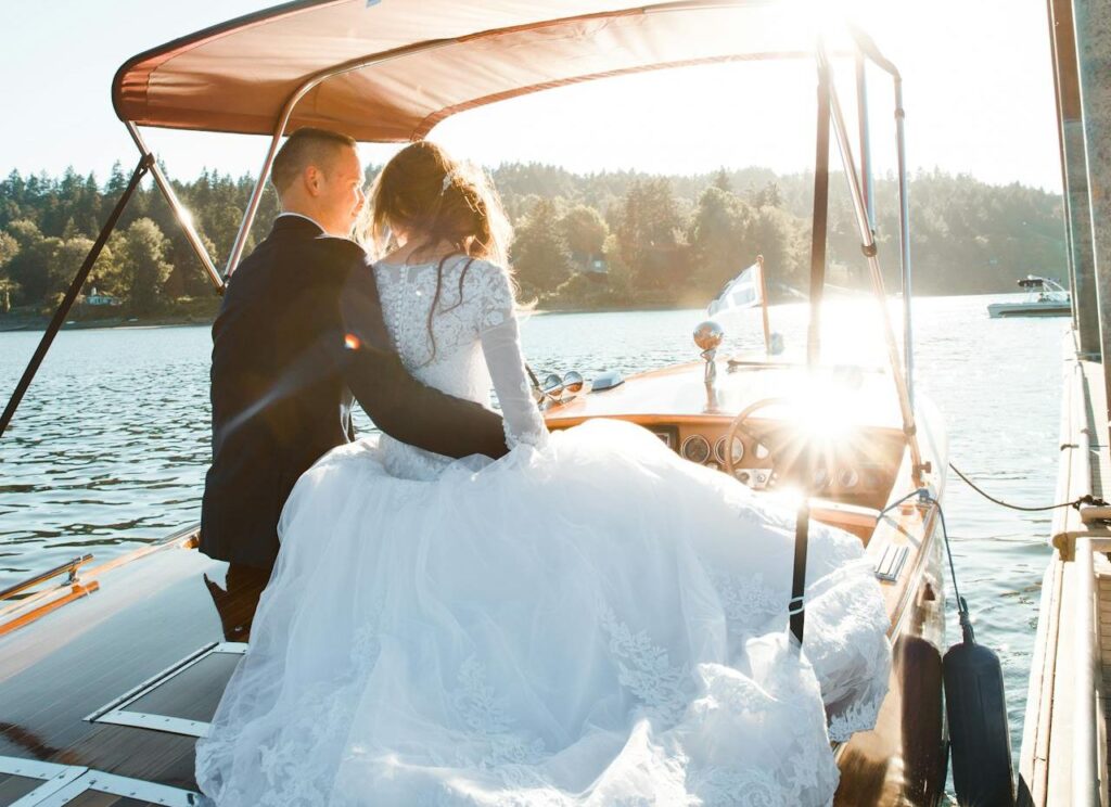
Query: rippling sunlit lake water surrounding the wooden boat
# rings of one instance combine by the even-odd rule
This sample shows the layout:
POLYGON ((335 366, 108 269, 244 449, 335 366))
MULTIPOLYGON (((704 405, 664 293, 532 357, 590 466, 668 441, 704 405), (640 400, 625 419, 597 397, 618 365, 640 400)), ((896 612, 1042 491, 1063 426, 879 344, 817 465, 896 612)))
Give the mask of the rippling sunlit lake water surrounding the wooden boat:
MULTIPOLYGON (((915 379, 943 413, 950 458, 992 494, 1052 503, 1064 319, 989 320, 1000 296, 914 302, 915 379)), ((898 306, 893 304, 892 310, 898 306)), ((830 302, 825 351, 880 364, 869 302, 830 302)), ((805 309, 777 306, 773 330, 804 345, 805 309)), ((629 372, 697 359, 698 311, 533 315, 538 372, 629 372)), ((727 325, 730 347, 760 343, 759 317, 727 325)), ((40 334, 0 333, 0 392, 14 389, 40 334)), ((0 587, 76 555, 98 561, 199 518, 209 462, 207 327, 67 331, 0 438, 0 587)), ((363 426, 368 424, 363 421, 363 426)), ((1002 510, 950 477, 945 515, 977 638, 1000 654, 1019 750, 1049 514, 1002 510)), ((959 636, 950 613, 950 640, 959 636)))

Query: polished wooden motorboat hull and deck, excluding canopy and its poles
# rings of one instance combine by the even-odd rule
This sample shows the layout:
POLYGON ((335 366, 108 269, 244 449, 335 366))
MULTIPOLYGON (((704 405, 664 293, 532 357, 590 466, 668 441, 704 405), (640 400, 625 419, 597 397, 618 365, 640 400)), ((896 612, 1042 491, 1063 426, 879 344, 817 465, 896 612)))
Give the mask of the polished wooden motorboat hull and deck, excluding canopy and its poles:
MULTIPOLYGON (((547 420, 563 428, 590 417, 620 417, 650 428, 677 452, 685 445, 692 461, 704 440, 710 450, 702 462, 723 465, 722 441, 734 413, 769 393, 812 383, 803 365, 753 359, 734 366, 722 373, 712 411, 702 364, 692 363, 604 391, 587 386, 550 406, 547 420)), ((937 508, 908 503, 880 516, 889 502, 915 490, 890 379, 839 367, 830 371, 829 386, 853 416, 841 424, 829 465, 819 472, 821 495, 812 514, 867 545, 881 575, 894 647, 891 689, 875 730, 837 750, 838 804, 937 804, 947 759, 937 508)), ((920 422, 922 433, 935 427, 932 418, 920 422)), ((767 435, 765 445, 740 437, 734 473, 749 474, 753 485, 777 495, 779 480, 792 475, 781 457, 791 455, 795 428, 779 422, 774 407, 758 412, 747 432, 767 435)), ((931 464, 944 467, 940 435, 927 444, 931 464)), ((938 487, 930 490, 941 496, 938 487)), ((137 794, 123 804, 196 804, 189 795, 196 787, 193 740, 244 649, 264 584, 229 577, 227 564, 196 551, 196 537, 190 528, 90 564, 76 579, 8 601, 0 611, 0 804, 13 804, 33 787, 56 786, 60 794, 86 786, 137 794)), ((60 798, 46 803, 66 804, 60 798)))

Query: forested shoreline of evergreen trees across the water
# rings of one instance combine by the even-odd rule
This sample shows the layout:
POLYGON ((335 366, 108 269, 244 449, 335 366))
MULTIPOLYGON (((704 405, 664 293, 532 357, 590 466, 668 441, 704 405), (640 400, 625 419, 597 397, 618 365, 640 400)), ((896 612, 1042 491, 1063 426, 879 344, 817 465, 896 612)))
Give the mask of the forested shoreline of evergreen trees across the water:
MULTIPOLYGON (((377 170, 368 170, 368 180, 377 170)), ((705 305, 757 254, 764 258, 772 297, 795 297, 808 286, 812 175, 759 168, 695 176, 584 175, 534 163, 491 173, 514 225, 510 254, 522 296, 543 309, 705 305)), ((13 171, 0 182, 0 326, 33 325, 53 311, 128 179, 117 165, 103 183, 72 169, 60 178, 13 171)), ((218 266, 252 184, 248 175, 209 171, 174 182, 218 266)), ((877 181, 877 240, 892 289, 897 191, 892 176, 877 181)), ((1060 196, 933 171, 912 176, 910 198, 915 293, 1015 291, 1015 280, 1027 274, 1065 279, 1060 196)), ((277 210, 268 188, 248 249, 266 236, 277 210)), ((831 182, 828 258, 831 283, 865 288, 841 176, 831 182)), ((204 322, 218 305, 172 213, 147 182, 71 319, 204 322)))

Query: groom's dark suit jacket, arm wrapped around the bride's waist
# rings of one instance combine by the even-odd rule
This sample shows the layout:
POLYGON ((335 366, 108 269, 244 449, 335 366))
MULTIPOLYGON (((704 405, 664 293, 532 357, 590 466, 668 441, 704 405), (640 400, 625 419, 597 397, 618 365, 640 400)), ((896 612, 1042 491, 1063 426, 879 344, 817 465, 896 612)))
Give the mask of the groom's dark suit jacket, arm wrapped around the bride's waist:
POLYGON ((376 425, 406 443, 456 457, 506 453, 499 416, 406 372, 358 244, 324 236, 308 219, 279 216, 236 270, 212 326, 202 552, 273 565, 293 483, 353 438, 352 393, 376 425), (346 344, 349 334, 360 349, 346 344))

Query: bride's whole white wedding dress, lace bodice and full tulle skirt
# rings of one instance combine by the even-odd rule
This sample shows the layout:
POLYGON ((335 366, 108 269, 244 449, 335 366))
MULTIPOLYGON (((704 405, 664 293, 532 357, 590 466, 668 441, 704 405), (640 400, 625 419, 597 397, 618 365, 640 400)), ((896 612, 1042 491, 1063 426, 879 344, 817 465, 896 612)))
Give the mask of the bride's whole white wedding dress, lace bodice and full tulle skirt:
POLYGON ((197 776, 218 805, 824 805, 830 739, 871 728, 890 647, 860 542, 811 527, 802 657, 793 517, 649 432, 549 435, 506 273, 379 264, 397 349, 488 402, 512 451, 383 436, 298 482, 250 649, 197 776), (462 279, 461 279, 462 275, 462 279))

